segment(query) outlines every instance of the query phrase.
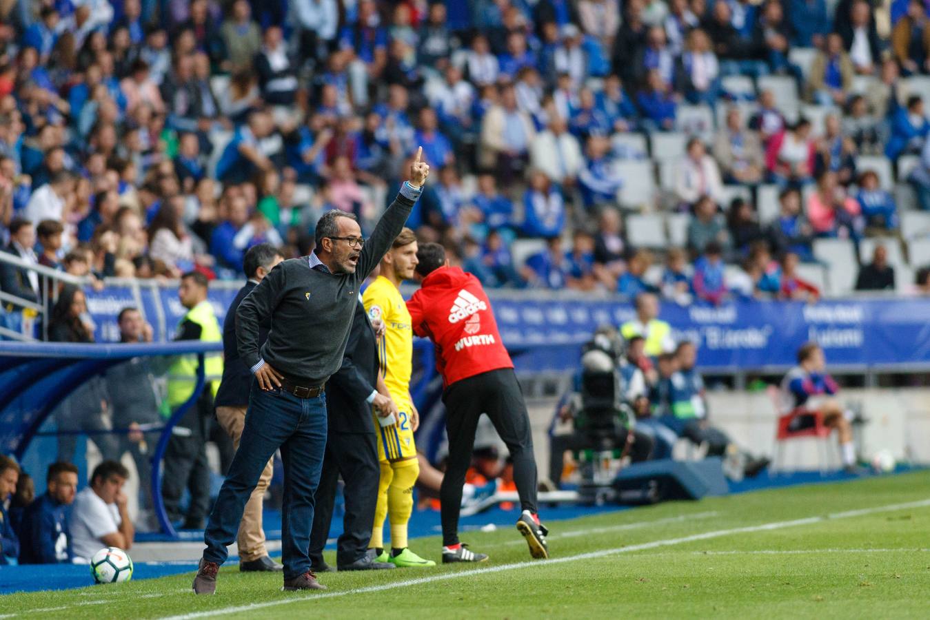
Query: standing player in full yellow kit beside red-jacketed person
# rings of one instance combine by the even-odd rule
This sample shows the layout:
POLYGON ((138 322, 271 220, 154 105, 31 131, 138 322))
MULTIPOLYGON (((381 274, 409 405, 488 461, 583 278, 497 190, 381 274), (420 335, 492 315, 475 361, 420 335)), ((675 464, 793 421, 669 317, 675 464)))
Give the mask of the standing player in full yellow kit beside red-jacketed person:
POLYGON ((399 287, 414 276, 417 267, 417 236, 405 228, 391 250, 381 259, 378 279, 365 290, 362 301, 372 320, 384 323, 385 333, 379 341, 378 356, 384 384, 399 411, 391 422, 387 411, 375 415, 375 436, 381 481, 375 524, 371 529, 370 548, 376 561, 391 562, 397 567, 435 566, 407 548, 407 521, 413 512, 413 487, 419 476, 417 446, 413 433, 419 426, 417 408, 410 397, 410 374, 413 368, 413 330, 399 287), (384 517, 391 522, 391 552, 384 548, 384 517))

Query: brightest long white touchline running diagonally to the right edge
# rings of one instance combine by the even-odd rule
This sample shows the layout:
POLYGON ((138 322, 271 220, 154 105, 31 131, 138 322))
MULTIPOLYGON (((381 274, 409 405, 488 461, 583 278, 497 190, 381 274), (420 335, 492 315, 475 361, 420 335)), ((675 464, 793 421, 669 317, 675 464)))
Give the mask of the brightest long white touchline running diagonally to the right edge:
POLYGON ((794 527, 796 525, 811 525, 813 523, 820 523, 823 521, 830 521, 832 519, 847 519, 850 517, 858 517, 862 515, 870 515, 878 512, 891 512, 894 510, 903 510, 905 508, 923 508, 930 506, 930 499, 923 499, 916 502, 907 502, 904 504, 889 504, 887 506, 878 506, 875 508, 862 508, 859 510, 849 510, 846 512, 836 512, 829 514, 826 517, 805 517, 804 519, 793 519, 791 521, 773 521, 770 523, 762 523, 760 525, 749 525, 746 527, 736 527, 728 530, 715 530, 712 532, 704 532, 703 534, 692 534, 689 536, 681 536, 679 538, 666 538, 664 540, 654 540, 648 543, 642 543, 640 545, 631 545, 630 547, 616 547, 612 549, 601 549, 599 551, 591 551, 588 553, 578 553, 573 556, 565 556, 563 558, 555 558, 547 561, 521 561, 514 562, 512 564, 501 564, 499 566, 489 566, 487 568, 477 568, 467 571, 458 571, 457 573, 445 573, 445 574, 435 574, 429 577, 420 577, 419 579, 409 579, 406 581, 395 581, 390 584, 381 584, 379 586, 367 586, 367 587, 356 587, 350 590, 342 590, 339 592, 326 592, 326 594, 316 594, 307 597, 295 597, 284 600, 268 600, 265 602, 251 603, 248 605, 237 605, 234 607, 226 607, 224 609, 216 609, 208 612, 198 612, 198 613, 184 613, 181 615, 172 615, 168 616, 164 620, 193 620, 193 618, 206 618, 214 615, 224 615, 227 613, 240 613, 240 612, 252 612, 259 609, 264 609, 266 607, 277 607, 279 605, 288 605, 294 602, 308 602, 312 600, 320 599, 332 599, 336 597, 344 597, 350 594, 367 594, 370 592, 381 592, 384 590, 392 590, 401 587, 409 586, 420 586, 422 584, 432 584, 438 581, 447 581, 449 579, 458 579, 461 577, 472 577, 480 574, 491 574, 491 573, 500 573, 503 571, 513 571, 529 567, 545 567, 551 566, 552 564, 562 564, 569 561, 578 561, 578 560, 593 560, 596 558, 604 558, 607 556, 618 555, 621 553, 631 553, 632 551, 644 551, 646 549, 654 549, 658 547, 671 547, 672 545, 681 545, 683 543, 692 543, 697 540, 708 540, 710 538, 720 538, 722 536, 729 536, 732 534, 748 534, 751 532, 767 532, 770 530, 780 530, 786 527, 794 527))

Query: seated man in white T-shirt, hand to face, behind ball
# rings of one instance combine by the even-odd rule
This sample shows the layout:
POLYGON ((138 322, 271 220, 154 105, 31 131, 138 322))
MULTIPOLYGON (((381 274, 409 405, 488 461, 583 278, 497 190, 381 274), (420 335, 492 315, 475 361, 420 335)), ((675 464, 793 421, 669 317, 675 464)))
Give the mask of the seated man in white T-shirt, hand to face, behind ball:
POLYGON ((103 461, 94 468, 90 486, 77 494, 68 526, 74 561, 90 561, 103 547, 132 547, 136 535, 126 510, 123 485, 128 470, 116 461, 103 461))

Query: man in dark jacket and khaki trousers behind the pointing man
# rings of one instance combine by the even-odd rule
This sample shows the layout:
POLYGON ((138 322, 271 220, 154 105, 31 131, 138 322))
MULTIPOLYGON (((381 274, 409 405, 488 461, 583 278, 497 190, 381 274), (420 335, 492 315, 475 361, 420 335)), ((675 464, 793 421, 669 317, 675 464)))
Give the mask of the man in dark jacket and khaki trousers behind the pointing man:
MULTIPOLYGON (((239 350, 235 341, 235 312, 252 289, 283 260, 284 257, 272 244, 258 244, 249 248, 243 260, 243 270, 246 271, 248 282, 239 289, 239 293, 230 304, 226 318, 223 320, 223 378, 219 384, 214 404, 217 407, 219 426, 229 433, 237 450, 239 440, 242 439, 242 429, 246 426, 246 407, 248 407, 248 390, 252 386, 252 373, 239 358, 239 350)), ((262 344, 268 339, 270 327, 270 317, 259 323, 259 342, 262 344)), ((268 464, 261 471, 261 478, 255 491, 248 498, 246 510, 242 513, 238 535, 240 571, 284 570, 281 564, 268 557, 268 550, 265 548, 265 532, 261 527, 262 499, 269 482, 272 481, 272 473, 274 473, 273 459, 269 459, 268 464)))

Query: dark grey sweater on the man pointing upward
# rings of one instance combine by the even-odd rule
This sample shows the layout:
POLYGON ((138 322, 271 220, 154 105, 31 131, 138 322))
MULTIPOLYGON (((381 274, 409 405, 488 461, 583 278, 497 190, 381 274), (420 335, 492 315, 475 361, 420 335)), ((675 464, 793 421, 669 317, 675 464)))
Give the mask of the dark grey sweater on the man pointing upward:
POLYGON ((362 248, 354 273, 312 270, 309 257, 284 261, 265 276, 236 310, 236 341, 247 368, 261 360, 301 386, 326 383, 342 365, 342 355, 359 286, 378 265, 404 228, 415 200, 404 188, 381 216, 362 248), (259 323, 271 316, 268 340, 259 351, 259 323))

